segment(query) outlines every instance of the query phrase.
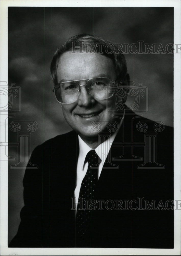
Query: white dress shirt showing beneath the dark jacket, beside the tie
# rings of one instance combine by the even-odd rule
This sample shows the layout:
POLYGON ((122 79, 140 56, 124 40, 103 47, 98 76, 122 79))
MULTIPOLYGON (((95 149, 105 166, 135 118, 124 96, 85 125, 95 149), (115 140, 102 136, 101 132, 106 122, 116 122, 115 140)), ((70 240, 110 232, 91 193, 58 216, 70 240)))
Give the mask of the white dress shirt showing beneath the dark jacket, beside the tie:
MULTIPOLYGON (((123 114, 123 118, 124 118, 124 114, 123 114)), ((119 124, 119 129, 122 125, 123 118, 121 119, 121 122, 119 124)), ((97 155, 101 159, 101 163, 99 164, 99 167, 98 167, 98 179, 100 177, 102 167, 103 167, 103 165, 106 161, 107 155, 108 155, 109 150, 111 148, 112 142, 114 141, 115 136, 117 135, 119 129, 110 138, 108 138, 106 141, 102 142, 100 145, 98 145, 95 148, 95 151, 96 151, 97 155)), ((89 147, 81 139, 81 137, 79 135, 78 135, 78 137, 79 137, 79 157, 78 157, 78 162, 77 162, 76 188, 75 188, 75 191, 74 191, 75 209, 77 209, 77 202, 78 202, 78 199, 79 199, 79 193, 80 193, 82 180, 83 180, 84 176, 86 175, 87 167, 88 167, 88 162, 84 163, 85 162, 85 157, 86 157, 87 153, 90 150, 92 150, 92 148, 89 147)))

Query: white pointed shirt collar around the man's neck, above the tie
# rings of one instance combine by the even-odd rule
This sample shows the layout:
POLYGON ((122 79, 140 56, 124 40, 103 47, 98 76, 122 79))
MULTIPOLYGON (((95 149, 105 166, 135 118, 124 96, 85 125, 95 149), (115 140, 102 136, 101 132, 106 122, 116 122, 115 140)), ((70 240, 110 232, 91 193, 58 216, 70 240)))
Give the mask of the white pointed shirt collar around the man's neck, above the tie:
MULTIPOLYGON (((122 119, 120 121, 118 130, 115 133, 113 133, 111 135, 111 137, 109 137, 106 141, 102 142, 100 145, 98 145, 95 148, 95 151, 96 151, 97 155, 100 157, 102 163, 105 163, 105 161, 106 161, 107 155, 108 155, 109 150, 110 150, 111 145, 112 145, 112 142, 114 141, 114 139, 115 139, 116 135, 118 134, 118 131, 119 131, 121 125, 122 125, 122 122, 123 122, 123 119, 124 119, 124 115, 125 115, 125 112, 124 112, 123 117, 122 117, 122 119)), ((89 147, 81 139, 81 137, 79 135, 78 135, 78 138, 79 138, 79 158, 80 158, 80 163, 81 163, 81 170, 83 170, 85 157, 86 157, 87 153, 90 150, 92 150, 92 148, 89 147)))

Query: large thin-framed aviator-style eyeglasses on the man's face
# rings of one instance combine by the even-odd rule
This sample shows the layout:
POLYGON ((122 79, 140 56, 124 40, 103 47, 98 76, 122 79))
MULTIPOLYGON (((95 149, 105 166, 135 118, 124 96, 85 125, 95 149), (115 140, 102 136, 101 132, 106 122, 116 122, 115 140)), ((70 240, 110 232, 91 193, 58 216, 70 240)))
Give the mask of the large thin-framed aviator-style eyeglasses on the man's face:
MULTIPOLYGON (((117 80, 117 79, 116 79, 117 80)), ((112 94, 107 92, 107 88, 110 87, 111 83, 115 83, 108 77, 96 77, 82 80, 66 81, 58 83, 53 92, 59 103, 62 104, 71 104, 78 100, 79 95, 81 94, 81 87, 85 86, 87 92, 92 95, 94 99, 97 100, 106 100, 112 97, 112 94), (85 84, 80 85, 81 81, 85 81, 85 84)))

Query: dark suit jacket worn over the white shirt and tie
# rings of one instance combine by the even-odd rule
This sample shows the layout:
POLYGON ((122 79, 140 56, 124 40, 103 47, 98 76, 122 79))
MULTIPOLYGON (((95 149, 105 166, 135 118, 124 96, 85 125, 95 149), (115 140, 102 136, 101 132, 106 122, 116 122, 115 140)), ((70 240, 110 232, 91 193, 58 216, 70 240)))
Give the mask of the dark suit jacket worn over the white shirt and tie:
MULTIPOLYGON (((148 157, 144 157, 144 152, 150 152, 149 148, 144 151, 147 138, 144 131, 138 131, 138 122, 147 123, 147 132, 155 134, 154 122, 131 111, 125 115, 115 138, 118 144, 109 152, 111 162, 119 168, 113 168, 109 161, 104 164, 95 196, 98 200, 122 201, 125 210, 115 210, 115 207, 107 210, 103 205, 103 210, 92 211, 92 247, 173 248, 173 210, 163 210, 165 202, 173 200, 173 129, 165 126, 154 139, 157 141, 157 146, 153 147, 157 150, 157 163, 164 168, 158 168, 155 159, 152 159, 154 168, 137 168, 148 157), (124 146, 123 150, 120 142, 129 142, 129 146, 124 146), (143 161, 133 161, 135 157, 143 157, 143 161), (139 201, 141 197, 142 209, 138 204, 139 209, 130 209, 130 201, 139 201), (155 202, 155 206, 153 204, 149 210, 147 205, 143 210, 146 207, 144 200, 150 205, 155 202)), ((79 142, 74 131, 35 148, 30 162, 38 164, 38 169, 25 171, 25 205, 20 213, 18 233, 9 247, 76 247, 71 197, 74 197, 76 186, 78 156, 79 142)), ((111 208, 111 204, 107 206, 111 208)), ((136 207, 135 201, 132 207, 136 207)), ((171 208, 170 203, 168 207, 171 208)))

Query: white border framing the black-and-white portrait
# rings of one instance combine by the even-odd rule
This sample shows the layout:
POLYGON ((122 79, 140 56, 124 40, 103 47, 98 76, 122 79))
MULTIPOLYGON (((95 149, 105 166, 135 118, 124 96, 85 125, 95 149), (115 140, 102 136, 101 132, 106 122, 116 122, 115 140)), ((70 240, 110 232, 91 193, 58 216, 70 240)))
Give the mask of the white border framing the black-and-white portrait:
MULTIPOLYGON (((1 1, 1 78, 8 81, 8 6, 29 7, 174 7, 174 46, 180 44, 179 0, 1 1)), ((180 54, 174 51, 174 200, 180 198, 180 54)), ((8 102, 8 99, 7 99, 8 102)), ((1 106, 4 102, 1 102, 1 106)), ((1 126, 5 125, 1 119, 1 126)), ((7 127, 8 124, 6 123, 7 127)), ((1 131, 1 138, 5 134, 1 131)), ((4 147, 1 147, 3 155, 4 147)), ((7 153, 7 152, 6 152, 7 153)), ((174 209, 174 249, 141 248, 8 248, 8 161, 1 161, 1 255, 180 255, 180 213, 174 209)))

